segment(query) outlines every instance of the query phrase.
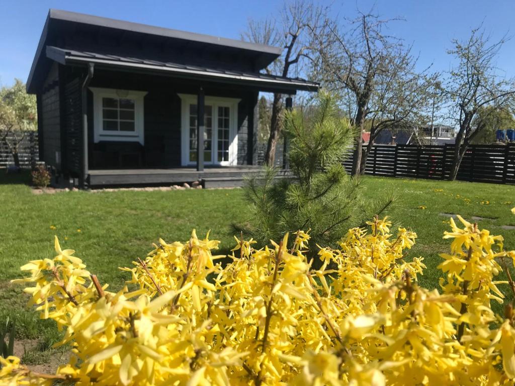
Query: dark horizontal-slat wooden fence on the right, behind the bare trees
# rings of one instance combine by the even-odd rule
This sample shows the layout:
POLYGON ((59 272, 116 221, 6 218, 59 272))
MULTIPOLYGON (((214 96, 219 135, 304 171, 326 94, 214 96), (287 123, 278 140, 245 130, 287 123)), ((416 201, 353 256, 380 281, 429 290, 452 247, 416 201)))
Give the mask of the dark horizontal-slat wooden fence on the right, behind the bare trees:
MULTIPOLYGON (((374 145, 365 174, 385 177, 448 179, 454 145, 374 145)), ((352 154, 344 162, 352 169, 352 154)), ((515 144, 471 145, 458 170, 458 180, 515 184, 515 144)))

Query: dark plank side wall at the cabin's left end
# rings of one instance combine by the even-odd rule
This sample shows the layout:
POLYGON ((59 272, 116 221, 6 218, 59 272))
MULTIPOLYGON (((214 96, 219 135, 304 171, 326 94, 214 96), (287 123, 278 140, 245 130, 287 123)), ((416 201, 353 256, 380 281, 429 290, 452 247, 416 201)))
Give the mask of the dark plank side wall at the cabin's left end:
POLYGON ((40 160, 56 169, 61 169, 61 126, 59 72, 56 63, 50 68, 41 92, 38 94, 39 119, 41 119, 40 160))

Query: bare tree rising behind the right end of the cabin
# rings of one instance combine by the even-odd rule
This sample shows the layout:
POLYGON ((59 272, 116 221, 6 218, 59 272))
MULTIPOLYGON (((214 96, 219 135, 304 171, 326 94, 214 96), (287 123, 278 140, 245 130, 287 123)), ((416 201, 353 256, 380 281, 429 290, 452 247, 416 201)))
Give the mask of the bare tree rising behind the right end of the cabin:
MULTIPOLYGON (((285 3, 280 20, 268 19, 261 22, 249 20, 248 29, 242 38, 254 43, 283 47, 283 55, 268 66, 267 74, 286 77, 295 69, 299 71, 302 59, 307 57, 308 25, 313 24, 319 10, 308 0, 285 3)), ((272 166, 277 142, 281 134, 283 95, 273 94, 270 118, 270 135, 266 149, 265 162, 272 166)))

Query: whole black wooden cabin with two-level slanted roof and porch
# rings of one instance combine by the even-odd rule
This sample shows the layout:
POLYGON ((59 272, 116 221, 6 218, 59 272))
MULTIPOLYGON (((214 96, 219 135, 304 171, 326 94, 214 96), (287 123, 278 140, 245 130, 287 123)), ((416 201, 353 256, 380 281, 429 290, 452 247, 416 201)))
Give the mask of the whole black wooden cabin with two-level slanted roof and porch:
POLYGON ((318 89, 260 73, 281 51, 52 9, 27 81, 40 160, 82 186, 230 185, 255 170, 259 92, 318 89))

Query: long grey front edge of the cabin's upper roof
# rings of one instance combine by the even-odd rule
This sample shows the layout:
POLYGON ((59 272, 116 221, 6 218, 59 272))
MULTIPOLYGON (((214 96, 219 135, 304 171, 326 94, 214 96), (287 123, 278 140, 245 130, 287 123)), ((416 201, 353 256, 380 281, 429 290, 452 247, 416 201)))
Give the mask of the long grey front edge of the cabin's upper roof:
POLYGON ((181 40, 189 40, 193 42, 201 42, 208 44, 215 44, 225 47, 234 47, 241 49, 248 49, 258 52, 266 52, 268 54, 281 55, 282 48, 273 47, 264 44, 256 44, 245 42, 243 40, 219 38, 211 35, 204 35, 201 33, 180 31, 177 29, 163 28, 150 26, 146 24, 126 22, 123 20, 109 19, 109 17, 100 17, 94 15, 88 15, 84 13, 63 11, 60 9, 50 9, 48 13, 50 19, 65 20, 68 22, 76 22, 81 24, 95 25, 99 27, 109 27, 115 29, 121 29, 132 32, 141 32, 151 35, 163 36, 167 38, 176 38, 181 40))

